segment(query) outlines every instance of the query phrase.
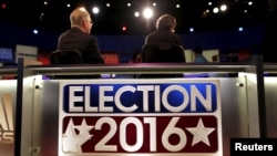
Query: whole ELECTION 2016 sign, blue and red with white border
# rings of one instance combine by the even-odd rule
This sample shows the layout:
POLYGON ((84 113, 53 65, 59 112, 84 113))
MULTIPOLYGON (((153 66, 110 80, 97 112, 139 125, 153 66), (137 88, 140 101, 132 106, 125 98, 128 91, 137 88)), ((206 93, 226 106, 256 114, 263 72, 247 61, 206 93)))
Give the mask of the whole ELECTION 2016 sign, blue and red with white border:
POLYGON ((217 80, 60 85, 59 156, 222 156, 217 80))

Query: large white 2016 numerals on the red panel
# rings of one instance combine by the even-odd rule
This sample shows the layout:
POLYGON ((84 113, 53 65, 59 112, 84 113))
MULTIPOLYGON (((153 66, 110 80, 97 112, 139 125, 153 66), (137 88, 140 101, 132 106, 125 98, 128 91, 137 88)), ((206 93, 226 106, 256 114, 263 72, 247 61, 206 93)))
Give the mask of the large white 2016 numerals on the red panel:
MULTIPOLYGON (((185 132, 179 128, 176 127, 176 124, 178 122, 179 117, 173 117, 170 123, 167 124, 167 126, 165 127, 164 132, 162 133, 162 145, 164 146, 165 149, 167 149, 168 152, 178 152, 182 150, 187 142, 186 138, 186 134, 185 132), (177 144, 171 144, 170 143, 170 136, 171 135, 177 135, 179 137, 178 143, 177 144)), ((101 131, 103 124, 109 124, 109 126, 111 127, 109 133, 95 145, 95 152, 116 152, 117 150, 117 146, 116 145, 107 145, 107 142, 116 134, 116 129, 117 129, 117 124, 116 122, 112 118, 112 117, 101 117, 100 119, 98 119, 98 122, 95 123, 95 131, 101 131), (113 128, 112 128, 113 127, 113 128)), ((156 152, 156 117, 144 117, 143 118, 143 123, 136 118, 136 117, 126 117, 124 118, 121 123, 120 123, 120 145, 122 146, 122 148, 126 152, 136 152, 138 149, 142 148, 143 146, 143 124, 148 124, 150 125, 150 150, 151 152, 156 152), (130 145, 127 143, 127 138, 126 138, 126 127, 127 125, 134 125, 136 128, 136 132, 142 132, 142 133, 136 133, 136 142, 133 145, 130 145)))

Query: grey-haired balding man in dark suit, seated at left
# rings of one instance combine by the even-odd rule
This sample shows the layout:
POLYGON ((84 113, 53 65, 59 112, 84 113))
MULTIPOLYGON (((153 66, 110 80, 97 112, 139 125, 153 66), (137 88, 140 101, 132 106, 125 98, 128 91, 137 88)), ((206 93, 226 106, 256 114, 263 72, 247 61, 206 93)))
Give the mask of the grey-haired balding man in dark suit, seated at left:
POLYGON ((103 64, 98 40, 91 35, 93 25, 90 13, 84 8, 76 8, 70 14, 71 29, 63 32, 58 40, 58 50, 79 50, 83 63, 103 64))

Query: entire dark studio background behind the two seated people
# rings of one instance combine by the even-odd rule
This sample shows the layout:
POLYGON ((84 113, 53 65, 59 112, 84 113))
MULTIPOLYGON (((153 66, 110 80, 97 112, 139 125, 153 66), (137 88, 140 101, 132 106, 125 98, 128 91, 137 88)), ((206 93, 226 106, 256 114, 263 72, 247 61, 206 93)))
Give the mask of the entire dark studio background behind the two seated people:
POLYGON ((182 37, 185 49, 201 45, 204 50, 217 49, 223 54, 259 53, 268 1, 211 1, 212 6, 208 0, 0 0, 0 45, 38 46, 39 54, 45 59, 57 49, 59 34, 70 28, 71 11, 82 6, 91 12, 91 8, 98 6, 100 13, 91 14, 92 34, 99 39, 101 52, 116 53, 121 62, 127 62, 142 49, 145 35, 155 30, 155 21, 163 13, 176 17, 176 33, 182 37), (105 6, 107 2, 110 8, 105 6), (127 2, 132 7, 129 8, 127 2), (134 18, 135 10, 141 11, 153 2, 157 4, 153 19, 134 18), (223 2, 228 6, 226 12, 203 14, 223 2), (175 8, 176 4, 181 8, 175 8), (122 31, 123 25, 126 31, 122 31), (188 31, 191 27, 194 32, 188 31), (239 27, 244 27, 244 31, 239 32, 239 27), (33 30, 39 33, 34 34, 33 30))

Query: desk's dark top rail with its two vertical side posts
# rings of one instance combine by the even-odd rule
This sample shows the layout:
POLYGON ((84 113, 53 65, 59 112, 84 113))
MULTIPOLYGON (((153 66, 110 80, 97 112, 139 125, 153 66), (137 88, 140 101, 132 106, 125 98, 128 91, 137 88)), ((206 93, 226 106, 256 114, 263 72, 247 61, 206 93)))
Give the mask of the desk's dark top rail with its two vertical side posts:
POLYGON ((261 138, 267 137, 266 105, 264 73, 276 73, 277 64, 264 63, 263 56, 254 55, 252 62, 232 63, 126 63, 116 65, 29 65, 24 66, 24 60, 18 60, 18 66, 1 67, 0 74, 17 75, 17 112, 16 112, 16 138, 14 155, 21 152, 22 126, 22 91, 23 79, 27 75, 69 75, 69 74, 138 74, 138 73, 238 73, 248 72, 256 74, 258 92, 259 133, 261 138))

